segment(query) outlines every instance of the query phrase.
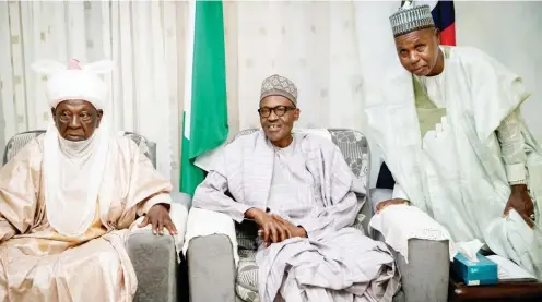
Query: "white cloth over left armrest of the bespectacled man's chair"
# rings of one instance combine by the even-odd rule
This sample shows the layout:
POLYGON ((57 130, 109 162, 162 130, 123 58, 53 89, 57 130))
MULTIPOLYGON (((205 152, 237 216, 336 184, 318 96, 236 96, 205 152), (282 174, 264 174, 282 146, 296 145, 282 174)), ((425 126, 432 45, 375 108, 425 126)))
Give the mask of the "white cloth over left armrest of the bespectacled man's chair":
POLYGON ((198 237, 211 234, 225 234, 232 243, 235 266, 239 262, 237 253, 237 237, 235 234, 234 220, 222 213, 192 207, 188 214, 188 222, 185 234, 182 254, 186 256, 190 240, 198 237))

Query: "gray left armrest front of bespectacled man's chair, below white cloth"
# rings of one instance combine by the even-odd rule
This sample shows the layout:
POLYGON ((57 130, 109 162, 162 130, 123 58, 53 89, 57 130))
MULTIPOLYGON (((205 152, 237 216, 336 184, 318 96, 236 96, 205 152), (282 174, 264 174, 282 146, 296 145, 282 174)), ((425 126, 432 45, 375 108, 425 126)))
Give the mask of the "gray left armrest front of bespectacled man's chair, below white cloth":
POLYGON ((188 280, 191 302, 235 302, 235 263, 225 234, 193 238, 188 246, 188 280))

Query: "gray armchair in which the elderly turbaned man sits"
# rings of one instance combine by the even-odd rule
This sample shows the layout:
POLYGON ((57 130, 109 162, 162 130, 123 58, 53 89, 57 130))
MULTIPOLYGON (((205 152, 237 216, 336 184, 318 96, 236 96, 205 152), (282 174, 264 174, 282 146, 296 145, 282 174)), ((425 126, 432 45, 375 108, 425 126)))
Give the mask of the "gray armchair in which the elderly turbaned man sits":
MULTIPOLYGON (((13 158, 28 142, 44 133, 44 130, 36 130, 13 136, 5 146, 2 165, 13 158)), ((156 144, 136 133, 127 132, 125 135, 136 142, 156 167, 156 144)), ((172 195, 175 203, 180 203, 180 197, 172 195)), ((138 291, 133 301, 176 302, 179 266, 173 237, 154 235, 146 229, 138 230, 130 234, 127 250, 138 277, 138 291)))

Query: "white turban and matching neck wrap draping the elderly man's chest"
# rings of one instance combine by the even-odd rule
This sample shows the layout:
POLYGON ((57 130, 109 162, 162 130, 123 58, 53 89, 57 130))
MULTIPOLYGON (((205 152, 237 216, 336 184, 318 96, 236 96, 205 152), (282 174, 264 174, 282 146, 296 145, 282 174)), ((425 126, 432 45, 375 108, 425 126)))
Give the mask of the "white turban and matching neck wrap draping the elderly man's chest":
MULTIPOLYGON (((99 61, 81 67, 71 60, 68 69, 58 62, 40 61, 33 68, 48 75, 47 99, 51 108, 63 100, 82 99, 96 109, 103 109, 108 96, 108 87, 99 78, 99 73, 113 70, 111 61, 99 61)), ((62 138, 51 122, 44 137, 44 195, 49 225, 67 237, 79 237, 92 225, 98 208, 104 171, 108 160, 110 136, 104 123, 94 134, 82 142, 62 138)), ((102 196, 107 214, 110 202, 102 196)))

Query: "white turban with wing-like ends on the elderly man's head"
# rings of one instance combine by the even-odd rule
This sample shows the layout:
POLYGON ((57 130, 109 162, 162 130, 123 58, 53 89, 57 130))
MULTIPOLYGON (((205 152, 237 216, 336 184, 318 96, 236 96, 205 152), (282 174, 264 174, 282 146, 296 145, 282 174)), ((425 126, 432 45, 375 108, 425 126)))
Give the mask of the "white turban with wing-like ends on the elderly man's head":
POLYGON ((81 65, 70 60, 68 68, 55 61, 38 61, 32 68, 48 76, 46 95, 51 108, 68 99, 82 99, 96 109, 104 109, 108 98, 107 84, 98 74, 113 70, 113 61, 103 60, 81 65))

